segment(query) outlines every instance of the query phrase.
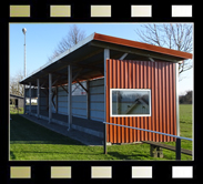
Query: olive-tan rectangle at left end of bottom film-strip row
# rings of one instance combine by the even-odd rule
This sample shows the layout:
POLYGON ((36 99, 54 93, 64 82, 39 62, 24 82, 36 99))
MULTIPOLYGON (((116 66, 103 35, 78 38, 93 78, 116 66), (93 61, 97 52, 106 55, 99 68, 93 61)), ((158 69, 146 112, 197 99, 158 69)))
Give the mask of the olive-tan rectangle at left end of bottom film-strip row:
POLYGON ((10 178, 31 178, 30 166, 11 166, 10 178))

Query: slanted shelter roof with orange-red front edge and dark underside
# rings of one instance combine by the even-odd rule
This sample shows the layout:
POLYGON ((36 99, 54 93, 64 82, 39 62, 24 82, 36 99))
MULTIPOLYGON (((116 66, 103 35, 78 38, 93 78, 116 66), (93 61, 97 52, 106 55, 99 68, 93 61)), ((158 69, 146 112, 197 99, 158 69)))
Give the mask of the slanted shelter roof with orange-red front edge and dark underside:
POLYGON ((104 75, 103 50, 110 49, 111 59, 120 59, 124 53, 125 60, 150 61, 149 58, 161 61, 179 62, 192 59, 191 53, 141 43, 132 40, 93 33, 74 47, 45 63, 40 69, 20 81, 21 84, 37 86, 37 79, 43 86, 48 86, 49 73, 52 73, 54 85, 68 83, 68 65, 72 65, 73 82, 101 78, 104 75))

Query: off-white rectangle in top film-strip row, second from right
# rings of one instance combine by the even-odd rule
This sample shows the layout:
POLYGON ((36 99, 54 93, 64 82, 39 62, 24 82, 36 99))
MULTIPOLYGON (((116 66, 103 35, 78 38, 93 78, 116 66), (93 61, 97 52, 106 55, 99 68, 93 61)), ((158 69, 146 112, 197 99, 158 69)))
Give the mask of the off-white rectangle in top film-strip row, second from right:
POLYGON ((131 17, 152 17, 152 6, 131 6, 131 17))

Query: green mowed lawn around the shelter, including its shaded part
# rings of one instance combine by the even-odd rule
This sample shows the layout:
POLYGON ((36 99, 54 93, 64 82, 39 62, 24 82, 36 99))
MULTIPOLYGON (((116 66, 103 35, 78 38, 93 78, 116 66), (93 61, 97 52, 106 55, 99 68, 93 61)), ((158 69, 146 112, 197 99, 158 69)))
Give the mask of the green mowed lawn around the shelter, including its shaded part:
MULTIPOLYGON (((22 113, 22 112, 21 112, 22 113)), ((16 112, 10 121, 11 161, 81 161, 81 160, 175 160, 175 152, 163 150, 163 159, 150 156, 149 144, 125 144, 108 146, 88 146, 82 143, 40 126, 16 112)), ((192 137, 192 105, 180 105, 181 136, 192 137)), ((192 150, 191 141, 182 141, 182 147, 192 150)), ((166 143, 175 145, 173 143, 166 143)), ((182 160, 192 156, 182 154, 182 160)))

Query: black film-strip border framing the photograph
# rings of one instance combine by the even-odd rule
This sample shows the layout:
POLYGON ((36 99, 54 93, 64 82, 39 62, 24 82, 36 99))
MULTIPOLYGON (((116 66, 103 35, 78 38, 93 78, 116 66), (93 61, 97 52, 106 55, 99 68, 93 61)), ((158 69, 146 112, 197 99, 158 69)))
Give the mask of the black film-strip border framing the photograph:
MULTIPOLYGON (((194 1, 191 3, 186 2, 186 4, 193 4, 193 17, 192 18, 172 18, 171 17, 171 6, 172 4, 185 4, 184 1, 176 0, 173 2, 152 2, 150 0, 143 1, 91 1, 87 4, 84 2, 75 2, 73 0, 70 1, 26 1, 19 0, 18 3, 16 0, 10 2, 3 2, 3 11, 1 11, 1 129, 0 136, 3 142, 1 144, 1 164, 0 167, 2 171, 0 172, 1 183, 75 183, 75 182, 89 182, 89 183, 104 183, 104 182, 119 182, 124 180, 125 183, 199 183, 202 178, 201 168, 202 168, 202 153, 201 149, 203 147, 202 136, 201 136, 201 127, 202 127, 202 119, 197 119, 196 115, 200 115, 201 112, 197 112, 197 103, 195 103, 195 112, 194 112, 194 161, 64 161, 64 162, 54 162, 54 161, 9 161, 9 23, 10 22, 195 22, 196 19, 195 8, 199 4, 195 4, 194 1), (31 17, 30 18, 10 18, 9 17, 9 7, 10 4, 30 4, 31 6, 31 17), (50 18, 50 4, 71 4, 71 18, 50 18), (111 4, 111 18, 90 18, 90 4, 111 4), (131 4, 152 4, 152 18, 131 18, 131 4), (10 178, 10 166, 31 166, 31 178, 30 180, 14 180, 10 178), (72 178, 70 180, 51 180, 50 178, 50 167, 51 166, 71 166, 72 167, 72 178), (112 178, 111 180, 92 180, 91 178, 91 166, 112 166, 112 178), (153 168, 153 178, 131 178, 131 166, 152 166, 153 168), (193 166, 193 178, 172 178, 172 166, 193 166), (78 176, 79 174, 79 176, 78 176)), ((201 4, 200 4, 201 6, 201 4)), ((196 10, 201 11, 201 10, 196 10)), ((197 21, 196 21, 197 22, 197 21)), ((194 42, 199 40, 196 35, 196 23, 195 28, 195 37, 194 42)), ((200 28, 201 29, 201 28, 200 28)), ((197 45, 197 44, 196 44, 197 45)), ((194 52, 193 52, 194 54, 194 52)), ((200 57, 200 55, 199 55, 200 57)), ((197 53, 195 54, 197 58, 197 53)), ((199 60, 199 58, 197 58, 199 60)), ((199 62, 196 62, 196 65, 199 62)), ((201 57, 200 57, 200 64, 201 57)), ((195 65, 195 70, 196 67, 195 65)), ((193 68, 194 70, 194 68, 193 68)), ((195 73, 195 72, 194 72, 195 73)), ((196 72, 197 73, 197 72, 196 72)), ((201 72, 200 72, 201 73, 201 72)), ((197 79, 197 78, 195 78, 197 79)), ((201 78, 200 78, 201 79, 201 78)), ((200 81, 200 80, 199 80, 200 81)), ((197 83, 197 82, 196 82, 197 83)), ((199 82, 201 83, 201 81, 199 82)), ((196 86, 196 85, 195 85, 196 86)), ((195 96, 197 96, 197 90, 195 89, 195 96)), ((193 94, 194 95, 194 94, 193 94)), ((202 100, 202 94, 199 95, 200 100, 202 100)), ((197 98, 196 98, 197 99, 197 98)), ((195 98, 194 98, 195 100, 195 98)), ((195 101, 196 102, 196 101, 195 101)), ((194 105, 194 102, 193 102, 194 105)), ((201 183, 201 182, 200 182, 201 183)))

